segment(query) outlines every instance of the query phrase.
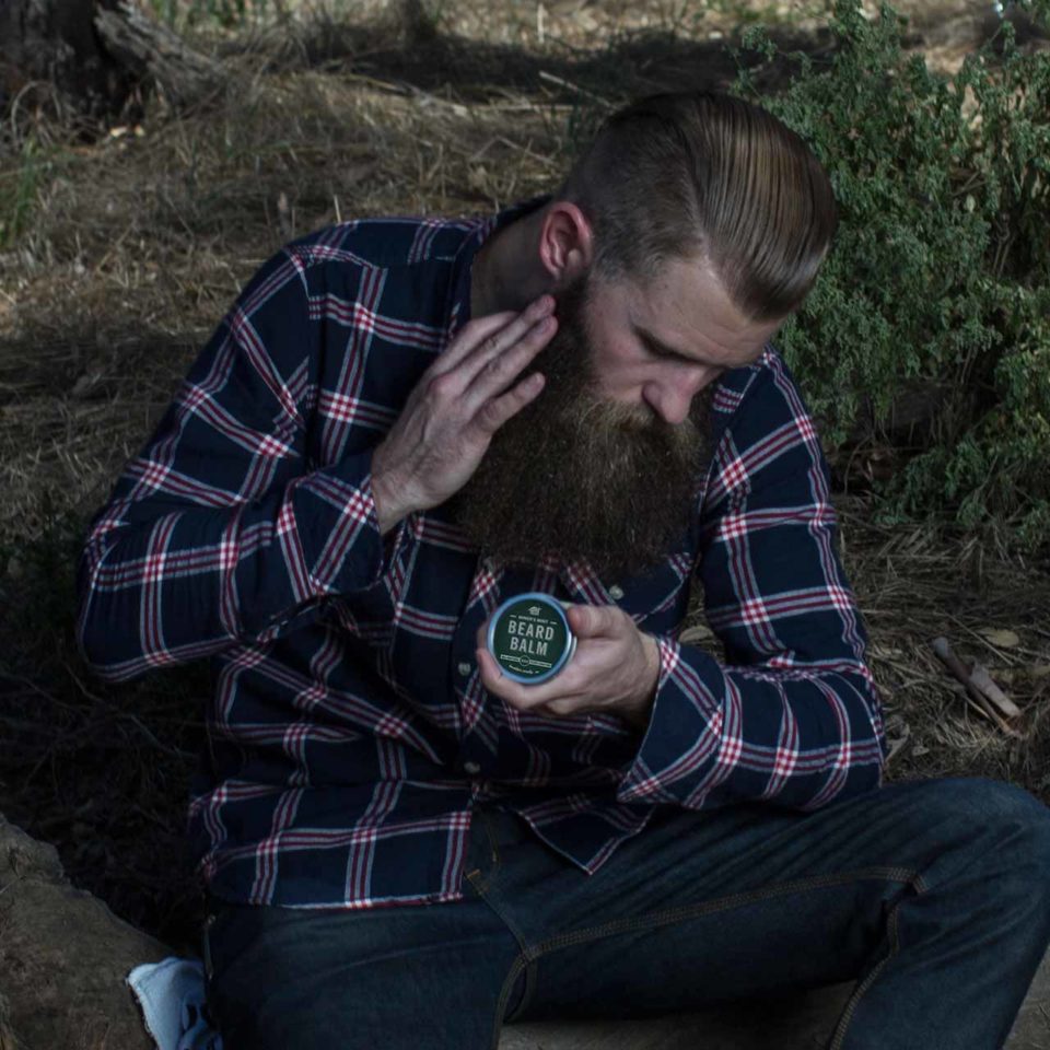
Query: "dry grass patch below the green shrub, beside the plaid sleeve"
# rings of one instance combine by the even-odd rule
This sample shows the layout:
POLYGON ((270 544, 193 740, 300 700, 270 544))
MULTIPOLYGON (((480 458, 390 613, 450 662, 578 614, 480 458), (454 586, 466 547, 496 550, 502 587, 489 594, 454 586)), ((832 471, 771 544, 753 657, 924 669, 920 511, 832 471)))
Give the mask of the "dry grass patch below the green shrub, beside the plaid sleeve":
POLYGON ((864 500, 838 502, 845 564, 871 633, 870 660, 887 732, 901 743, 889 779, 987 775, 1017 781, 1050 800, 1046 564, 1007 560, 973 539, 928 528, 876 528, 864 500), (947 675, 931 649, 938 635, 965 662, 988 667, 1020 708, 1013 722, 1018 737, 995 726, 947 675))

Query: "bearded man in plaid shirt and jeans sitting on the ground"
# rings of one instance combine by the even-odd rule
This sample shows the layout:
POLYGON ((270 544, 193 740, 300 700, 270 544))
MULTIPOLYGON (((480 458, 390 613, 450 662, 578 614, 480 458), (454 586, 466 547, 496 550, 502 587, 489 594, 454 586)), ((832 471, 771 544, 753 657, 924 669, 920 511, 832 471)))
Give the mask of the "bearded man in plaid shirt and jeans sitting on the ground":
POLYGON ((833 1048, 995 1050, 1050 820, 883 783, 828 471, 770 339, 827 175, 716 93, 606 121, 550 197, 366 220, 244 291, 92 523, 80 640, 209 656, 190 829, 226 1050, 482 1050, 856 980, 833 1048), (678 640, 690 582, 720 643, 678 640), (575 653, 486 650, 544 592, 575 653))

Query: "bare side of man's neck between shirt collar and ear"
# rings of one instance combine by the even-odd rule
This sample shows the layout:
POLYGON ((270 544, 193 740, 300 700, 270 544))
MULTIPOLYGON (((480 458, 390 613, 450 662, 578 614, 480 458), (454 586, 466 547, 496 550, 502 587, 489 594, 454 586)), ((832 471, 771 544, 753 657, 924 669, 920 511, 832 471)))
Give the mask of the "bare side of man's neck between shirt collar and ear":
POLYGON ((539 256, 539 208, 494 233, 481 245, 470 268, 470 316, 522 311, 549 291, 539 256))

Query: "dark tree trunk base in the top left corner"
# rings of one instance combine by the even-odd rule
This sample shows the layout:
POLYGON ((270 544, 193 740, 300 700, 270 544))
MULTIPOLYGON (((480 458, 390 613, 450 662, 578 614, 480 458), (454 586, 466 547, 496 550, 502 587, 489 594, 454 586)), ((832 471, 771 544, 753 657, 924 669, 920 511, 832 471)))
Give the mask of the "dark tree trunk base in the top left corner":
POLYGON ((101 46, 94 16, 114 0, 0 0, 0 109, 27 84, 54 84, 78 108, 98 112, 127 91, 101 46))

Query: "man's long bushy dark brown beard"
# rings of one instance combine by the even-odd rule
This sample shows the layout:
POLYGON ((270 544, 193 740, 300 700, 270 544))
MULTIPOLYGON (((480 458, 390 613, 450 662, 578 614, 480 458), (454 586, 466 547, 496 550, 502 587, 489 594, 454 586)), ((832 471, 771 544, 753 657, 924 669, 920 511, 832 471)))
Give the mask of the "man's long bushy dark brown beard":
POLYGON ((558 296, 558 331, 518 377, 542 372, 542 392, 497 431, 450 508, 483 555, 508 564, 553 556, 630 576, 686 536, 710 459, 713 384, 677 425, 598 397, 586 295, 583 278, 558 296))

